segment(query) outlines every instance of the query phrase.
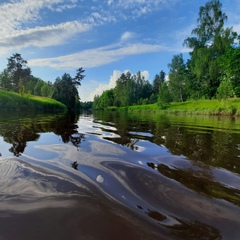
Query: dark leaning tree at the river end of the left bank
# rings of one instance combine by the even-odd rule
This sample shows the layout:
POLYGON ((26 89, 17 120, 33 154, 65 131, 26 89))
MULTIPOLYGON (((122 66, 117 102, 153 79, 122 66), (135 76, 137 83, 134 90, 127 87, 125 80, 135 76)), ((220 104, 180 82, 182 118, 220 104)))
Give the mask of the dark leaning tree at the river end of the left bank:
POLYGON ((80 98, 77 87, 81 85, 81 81, 85 77, 85 75, 83 75, 84 71, 82 68, 77 69, 74 78, 72 78, 70 74, 64 73, 61 78, 58 77, 54 82, 53 98, 64 103, 70 110, 80 108, 80 98))

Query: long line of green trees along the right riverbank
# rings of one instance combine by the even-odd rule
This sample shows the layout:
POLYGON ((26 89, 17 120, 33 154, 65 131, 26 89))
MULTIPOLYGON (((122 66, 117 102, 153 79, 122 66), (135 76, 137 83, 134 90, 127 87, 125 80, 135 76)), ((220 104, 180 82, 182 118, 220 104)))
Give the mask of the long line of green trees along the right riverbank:
POLYGON ((240 97, 240 35, 224 27, 226 20, 221 2, 208 1, 199 9, 197 27, 184 40, 191 49, 188 60, 174 55, 168 77, 161 71, 152 84, 140 72, 123 73, 113 89, 95 96, 93 107, 158 103, 164 108, 173 101, 240 97))

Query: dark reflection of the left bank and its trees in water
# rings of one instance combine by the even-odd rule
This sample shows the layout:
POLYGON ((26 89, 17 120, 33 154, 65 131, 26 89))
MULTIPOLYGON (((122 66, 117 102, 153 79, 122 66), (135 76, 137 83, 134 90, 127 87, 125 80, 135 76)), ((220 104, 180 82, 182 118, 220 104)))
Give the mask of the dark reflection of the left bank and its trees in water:
POLYGON ((14 116, 11 121, 0 119, 0 135, 12 144, 9 149, 14 156, 20 156, 29 141, 37 141, 40 133, 54 132, 60 135, 64 143, 71 142, 79 147, 84 134, 76 131, 79 114, 14 116))

